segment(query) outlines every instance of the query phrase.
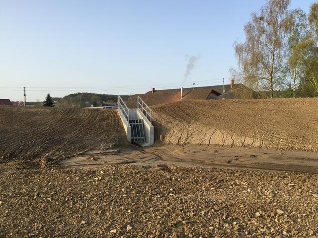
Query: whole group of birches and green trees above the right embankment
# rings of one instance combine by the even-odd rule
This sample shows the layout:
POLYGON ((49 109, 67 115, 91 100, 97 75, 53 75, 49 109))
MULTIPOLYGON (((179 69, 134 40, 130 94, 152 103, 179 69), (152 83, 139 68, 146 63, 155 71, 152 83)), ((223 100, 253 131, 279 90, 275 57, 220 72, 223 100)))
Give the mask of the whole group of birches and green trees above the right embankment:
POLYGON ((268 0, 234 43, 238 70, 232 79, 273 97, 318 96, 318 2, 309 14, 290 0, 268 0))

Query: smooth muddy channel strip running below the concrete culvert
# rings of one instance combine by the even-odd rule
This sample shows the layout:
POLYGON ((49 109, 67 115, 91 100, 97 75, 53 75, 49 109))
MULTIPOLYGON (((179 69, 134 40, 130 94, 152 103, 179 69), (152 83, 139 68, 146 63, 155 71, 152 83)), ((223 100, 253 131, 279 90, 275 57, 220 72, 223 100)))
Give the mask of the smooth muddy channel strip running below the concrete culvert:
POLYGON ((297 171, 318 174, 318 153, 216 145, 162 145, 93 150, 59 163, 68 168, 102 168, 134 164, 145 167, 221 167, 248 170, 297 171))

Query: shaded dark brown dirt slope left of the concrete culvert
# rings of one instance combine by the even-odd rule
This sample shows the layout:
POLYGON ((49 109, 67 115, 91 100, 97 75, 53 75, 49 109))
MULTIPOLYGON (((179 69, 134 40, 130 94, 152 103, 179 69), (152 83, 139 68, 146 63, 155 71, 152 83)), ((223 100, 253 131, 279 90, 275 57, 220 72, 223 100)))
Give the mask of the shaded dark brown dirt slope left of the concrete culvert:
POLYGON ((114 110, 0 107, 0 161, 59 159, 125 141, 114 110))

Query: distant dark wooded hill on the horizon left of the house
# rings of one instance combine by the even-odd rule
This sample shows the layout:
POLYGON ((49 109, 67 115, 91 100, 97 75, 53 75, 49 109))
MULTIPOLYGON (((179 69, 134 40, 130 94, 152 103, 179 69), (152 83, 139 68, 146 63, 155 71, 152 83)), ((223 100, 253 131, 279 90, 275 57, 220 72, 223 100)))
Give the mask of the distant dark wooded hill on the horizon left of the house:
MULTIPOLYGON (((124 101, 128 101, 129 95, 121 95, 124 101)), ((115 103, 118 101, 117 95, 98 94, 98 93, 73 93, 63 98, 54 98, 58 102, 57 106, 63 108, 85 108, 94 105, 94 107, 102 106, 107 103, 115 103)))

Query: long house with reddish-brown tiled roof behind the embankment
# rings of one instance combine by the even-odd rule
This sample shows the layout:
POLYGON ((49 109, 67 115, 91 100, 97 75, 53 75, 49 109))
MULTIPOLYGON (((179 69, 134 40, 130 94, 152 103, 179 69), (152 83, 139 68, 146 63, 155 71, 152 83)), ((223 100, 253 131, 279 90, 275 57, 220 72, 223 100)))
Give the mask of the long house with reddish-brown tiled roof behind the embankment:
POLYGON ((253 90, 245 85, 239 83, 205 86, 205 87, 191 87, 191 88, 175 88, 156 90, 152 88, 151 91, 145 94, 136 94, 130 98, 127 103, 128 107, 134 107, 134 102, 137 101, 137 96, 140 96, 147 105, 153 106, 158 104, 173 103, 184 100, 210 100, 210 99, 243 99, 252 98, 253 90), (223 92, 224 88, 224 92, 223 92), (182 96, 181 96, 182 94, 182 96))

